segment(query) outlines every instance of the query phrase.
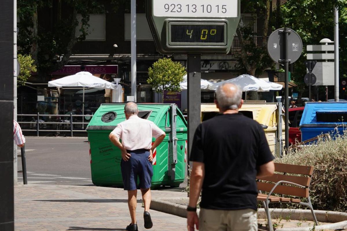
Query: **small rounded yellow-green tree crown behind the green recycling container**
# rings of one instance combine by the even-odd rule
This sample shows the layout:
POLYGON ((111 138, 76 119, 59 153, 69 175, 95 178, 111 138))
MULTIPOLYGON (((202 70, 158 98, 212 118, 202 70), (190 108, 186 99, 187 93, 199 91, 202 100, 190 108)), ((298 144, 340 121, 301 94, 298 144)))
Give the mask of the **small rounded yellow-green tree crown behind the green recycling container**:
POLYGON ((187 74, 185 68, 179 62, 163 58, 153 63, 148 69, 149 78, 147 83, 151 84, 154 91, 161 93, 164 91, 181 91, 179 83, 183 81, 183 76, 187 74))

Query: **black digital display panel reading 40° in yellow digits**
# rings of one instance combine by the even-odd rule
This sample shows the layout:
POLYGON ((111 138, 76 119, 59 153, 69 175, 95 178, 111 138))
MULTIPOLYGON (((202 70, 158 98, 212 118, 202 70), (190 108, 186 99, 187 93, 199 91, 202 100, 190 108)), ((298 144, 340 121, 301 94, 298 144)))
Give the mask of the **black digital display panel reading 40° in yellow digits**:
POLYGON ((225 23, 169 23, 170 45, 226 45, 225 23))

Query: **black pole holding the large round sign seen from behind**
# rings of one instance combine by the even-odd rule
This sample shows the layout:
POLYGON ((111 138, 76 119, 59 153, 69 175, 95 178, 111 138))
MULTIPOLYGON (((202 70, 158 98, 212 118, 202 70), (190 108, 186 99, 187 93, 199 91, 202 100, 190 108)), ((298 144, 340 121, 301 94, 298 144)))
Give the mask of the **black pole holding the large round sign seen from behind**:
POLYGON ((289 30, 289 28, 285 28, 285 31, 284 31, 284 33, 285 33, 285 75, 286 75, 286 79, 285 79, 285 109, 286 109, 286 111, 285 111, 285 119, 286 119, 286 121, 285 121, 285 124, 286 124, 286 150, 288 150, 288 148, 289 148, 289 99, 288 99, 288 97, 289 97, 289 83, 288 83, 288 81, 289 81, 289 62, 290 62, 290 60, 288 59, 288 47, 289 47, 289 45, 288 45, 288 34, 290 33, 290 30, 289 30))

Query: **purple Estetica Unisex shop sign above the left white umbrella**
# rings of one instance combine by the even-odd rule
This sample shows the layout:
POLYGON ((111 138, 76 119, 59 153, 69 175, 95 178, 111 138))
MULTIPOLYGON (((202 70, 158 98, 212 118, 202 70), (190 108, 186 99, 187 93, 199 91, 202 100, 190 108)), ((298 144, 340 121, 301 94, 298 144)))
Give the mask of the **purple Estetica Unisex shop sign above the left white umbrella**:
POLYGON ((88 71, 92 74, 118 74, 118 65, 87 65, 87 66, 64 66, 51 74, 76 74, 80 71, 88 71), (81 70, 81 67, 84 70, 81 70))

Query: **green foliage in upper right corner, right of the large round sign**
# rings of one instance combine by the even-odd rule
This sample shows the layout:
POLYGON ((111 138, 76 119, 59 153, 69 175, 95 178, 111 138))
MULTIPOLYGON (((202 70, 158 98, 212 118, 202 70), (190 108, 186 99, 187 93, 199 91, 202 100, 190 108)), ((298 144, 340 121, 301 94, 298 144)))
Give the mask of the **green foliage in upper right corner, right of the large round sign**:
MULTIPOLYGON (((294 63, 292 78, 299 85, 299 91, 307 88, 304 85, 306 74, 306 45, 319 44, 323 38, 334 40, 333 9, 339 6, 340 62, 347 61, 347 1, 345 0, 289 0, 281 6, 281 27, 296 30, 303 41, 303 55, 294 63)), ((340 64, 340 75, 347 72, 347 66, 340 64)))

